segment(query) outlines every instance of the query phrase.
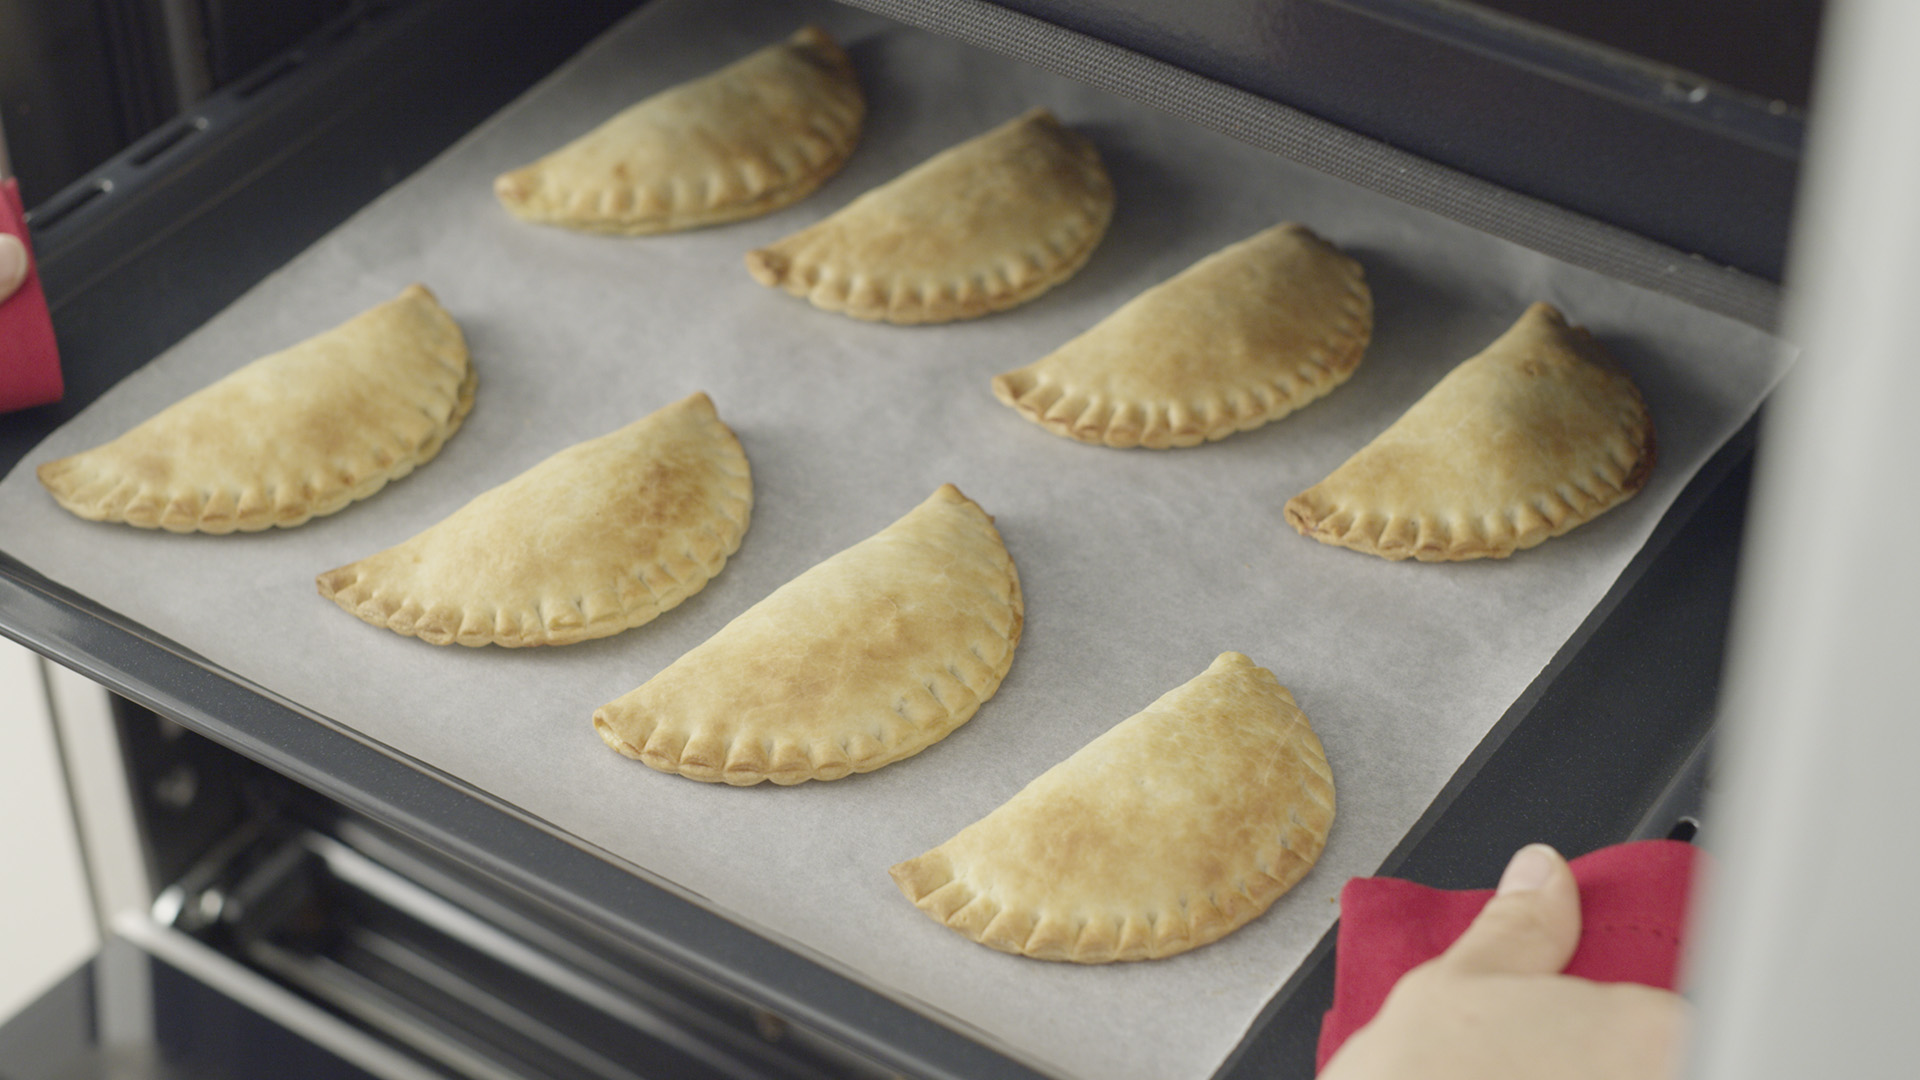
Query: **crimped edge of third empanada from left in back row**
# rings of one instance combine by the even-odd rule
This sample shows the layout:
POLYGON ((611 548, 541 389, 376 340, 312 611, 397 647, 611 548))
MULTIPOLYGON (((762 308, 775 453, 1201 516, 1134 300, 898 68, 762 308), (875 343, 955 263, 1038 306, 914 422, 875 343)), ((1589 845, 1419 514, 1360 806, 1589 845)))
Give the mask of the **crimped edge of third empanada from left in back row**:
MULTIPOLYGON (((1302 225, 1292 229, 1313 236, 1302 225)), ((1313 238, 1319 240, 1319 236, 1313 238)), ((1325 240, 1321 242, 1325 244, 1325 240)), ((1229 252, 1231 248, 1213 252, 1208 259, 1229 252)), ((1350 298, 1342 307, 1342 319, 1329 329, 1327 338, 1309 350, 1300 365, 1277 379, 1213 386, 1210 394, 1185 402, 1114 402, 1104 394, 1066 386, 1037 373, 1039 363, 1029 363, 995 375, 993 396, 1054 434, 1117 450, 1200 446, 1277 421, 1346 382, 1373 340, 1373 292, 1367 288, 1359 261, 1346 254, 1340 258, 1348 269, 1350 298)), ((1208 259, 1190 269, 1198 269, 1208 259)))

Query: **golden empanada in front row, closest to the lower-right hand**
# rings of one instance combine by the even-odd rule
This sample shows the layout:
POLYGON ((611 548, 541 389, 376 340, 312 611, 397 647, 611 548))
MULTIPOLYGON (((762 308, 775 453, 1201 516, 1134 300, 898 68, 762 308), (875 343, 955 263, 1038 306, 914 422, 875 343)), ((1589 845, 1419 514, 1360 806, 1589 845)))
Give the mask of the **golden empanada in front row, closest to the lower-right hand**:
POLYGON ((891 874, 1002 953, 1142 961, 1244 926, 1329 828, 1332 773, 1306 715, 1271 671, 1221 653, 891 874))

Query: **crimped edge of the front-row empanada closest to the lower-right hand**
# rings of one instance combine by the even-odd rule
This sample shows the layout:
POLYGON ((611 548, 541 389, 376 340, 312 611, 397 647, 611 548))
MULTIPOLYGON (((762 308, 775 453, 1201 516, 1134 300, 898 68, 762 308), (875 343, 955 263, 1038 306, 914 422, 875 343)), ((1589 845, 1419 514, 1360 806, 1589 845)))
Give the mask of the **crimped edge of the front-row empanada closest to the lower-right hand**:
MULTIPOLYGON (((1213 663, 1265 671, 1244 653, 1233 651, 1221 653, 1213 663)), ((1271 678, 1271 673, 1267 676, 1271 678)), ((1281 694, 1298 711, 1284 686, 1281 694)), ((1300 713, 1290 738, 1298 742, 1302 757, 1315 765, 1309 773, 1319 784, 1309 788, 1309 794, 1317 796, 1315 801, 1325 811, 1323 821, 1306 822, 1298 813, 1292 815, 1288 830, 1252 855, 1252 869, 1242 871, 1225 890, 1183 897, 1177 911, 1129 913, 1119 919, 1048 911, 1033 919, 995 899, 995 882, 979 886, 970 882, 954 867, 945 846, 895 863, 887 872, 900 894, 935 922, 1002 953, 1081 965, 1179 955, 1213 944, 1263 915, 1275 899, 1300 884, 1327 849, 1334 819, 1332 767, 1306 713, 1300 713), (1296 836, 1306 842, 1296 844, 1296 836)))

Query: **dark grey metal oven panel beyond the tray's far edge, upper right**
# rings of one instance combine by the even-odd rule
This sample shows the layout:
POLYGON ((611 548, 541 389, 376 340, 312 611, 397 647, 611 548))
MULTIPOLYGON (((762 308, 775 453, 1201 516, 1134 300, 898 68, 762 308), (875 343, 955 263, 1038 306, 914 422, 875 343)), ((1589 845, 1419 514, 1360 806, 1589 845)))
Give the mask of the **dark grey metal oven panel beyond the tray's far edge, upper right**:
POLYGON ((1780 281, 1799 115, 1434 0, 1008 0, 1505 188, 1780 281))

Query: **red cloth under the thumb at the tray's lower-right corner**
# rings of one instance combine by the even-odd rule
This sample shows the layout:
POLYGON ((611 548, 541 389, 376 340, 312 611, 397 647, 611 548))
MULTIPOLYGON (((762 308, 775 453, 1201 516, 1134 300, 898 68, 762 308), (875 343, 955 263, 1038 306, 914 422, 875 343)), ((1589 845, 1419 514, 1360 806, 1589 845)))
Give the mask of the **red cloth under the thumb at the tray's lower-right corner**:
MULTIPOLYGON (((1580 947, 1567 974, 1674 990, 1695 857, 1692 844, 1645 840, 1574 859, 1580 947)), ((1494 890, 1450 892, 1398 878, 1346 882, 1317 1068, 1380 1011, 1402 974, 1444 953, 1492 897, 1494 890)))

